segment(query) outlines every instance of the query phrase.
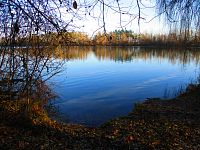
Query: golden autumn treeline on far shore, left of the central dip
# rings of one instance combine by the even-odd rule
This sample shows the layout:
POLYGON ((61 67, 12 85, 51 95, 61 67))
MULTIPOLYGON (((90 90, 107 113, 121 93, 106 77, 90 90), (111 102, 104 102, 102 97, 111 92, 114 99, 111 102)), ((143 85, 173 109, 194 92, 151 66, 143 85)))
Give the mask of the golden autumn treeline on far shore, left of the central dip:
MULTIPOLYGON (((0 38, 1 45, 10 45, 10 39, 2 37, 0 38)), ((46 34, 30 34, 29 36, 17 36, 14 43, 20 46, 26 45, 91 45, 91 39, 89 36, 82 32, 49 32, 46 34)))

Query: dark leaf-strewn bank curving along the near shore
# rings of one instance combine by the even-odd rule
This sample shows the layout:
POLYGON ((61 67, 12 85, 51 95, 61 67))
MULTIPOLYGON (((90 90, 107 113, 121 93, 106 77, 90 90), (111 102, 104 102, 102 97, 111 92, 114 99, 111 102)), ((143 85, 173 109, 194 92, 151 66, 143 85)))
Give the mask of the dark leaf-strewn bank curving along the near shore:
POLYGON ((2 101, 0 149, 200 149, 200 85, 149 99, 99 128, 59 124, 37 103, 2 101))

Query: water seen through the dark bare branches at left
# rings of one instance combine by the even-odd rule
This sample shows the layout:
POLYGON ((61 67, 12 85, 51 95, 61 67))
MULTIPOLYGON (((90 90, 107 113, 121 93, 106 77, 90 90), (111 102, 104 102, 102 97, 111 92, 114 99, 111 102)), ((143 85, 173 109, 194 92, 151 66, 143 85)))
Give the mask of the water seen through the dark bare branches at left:
POLYGON ((52 96, 45 81, 57 74, 63 61, 42 48, 0 49, 0 99, 43 99, 52 96))

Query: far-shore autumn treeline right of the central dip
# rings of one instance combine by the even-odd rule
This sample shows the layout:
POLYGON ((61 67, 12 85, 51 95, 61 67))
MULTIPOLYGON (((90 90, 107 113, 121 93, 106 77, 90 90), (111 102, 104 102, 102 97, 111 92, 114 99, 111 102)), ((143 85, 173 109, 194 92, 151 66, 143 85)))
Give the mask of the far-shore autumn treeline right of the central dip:
POLYGON ((200 46, 200 31, 169 34, 136 34, 131 30, 115 30, 109 34, 97 33, 95 45, 119 46, 200 46))

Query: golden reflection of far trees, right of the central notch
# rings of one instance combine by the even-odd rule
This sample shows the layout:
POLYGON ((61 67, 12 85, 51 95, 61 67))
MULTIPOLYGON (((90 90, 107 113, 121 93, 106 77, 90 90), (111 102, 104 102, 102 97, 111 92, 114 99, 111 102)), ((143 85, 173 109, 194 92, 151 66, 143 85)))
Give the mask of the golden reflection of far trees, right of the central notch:
POLYGON ((167 59, 170 63, 187 64, 191 61, 199 63, 200 52, 198 50, 182 50, 182 49, 155 49, 155 48, 112 48, 112 49, 96 49, 96 56, 99 59, 112 59, 115 61, 132 61, 135 59, 158 59, 162 61, 167 59))

